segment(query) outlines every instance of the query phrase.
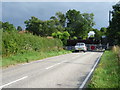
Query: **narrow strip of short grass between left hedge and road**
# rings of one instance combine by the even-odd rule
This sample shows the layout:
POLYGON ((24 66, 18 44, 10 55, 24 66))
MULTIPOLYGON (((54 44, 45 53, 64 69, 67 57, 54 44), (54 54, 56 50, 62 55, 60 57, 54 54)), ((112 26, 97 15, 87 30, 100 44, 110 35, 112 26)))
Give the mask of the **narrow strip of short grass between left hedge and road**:
POLYGON ((16 65, 20 63, 25 63, 25 62, 31 62, 35 60, 40 60, 44 59, 47 57, 52 57, 52 56, 57 56, 57 55, 62 55, 62 54, 67 54, 71 53, 70 51, 66 50, 61 50, 61 51, 49 51, 49 52, 36 52, 36 51, 29 51, 24 54, 16 54, 16 55, 11 55, 9 57, 3 57, 2 58, 2 67, 8 67, 11 65, 16 65))

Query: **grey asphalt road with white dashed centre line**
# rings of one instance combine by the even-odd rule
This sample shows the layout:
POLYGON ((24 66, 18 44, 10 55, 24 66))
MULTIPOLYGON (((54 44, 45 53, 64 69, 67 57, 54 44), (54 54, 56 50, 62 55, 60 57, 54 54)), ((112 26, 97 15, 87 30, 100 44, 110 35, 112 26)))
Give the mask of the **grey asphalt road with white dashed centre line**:
POLYGON ((0 88, 78 88, 101 54, 70 53, 3 69, 0 88))

